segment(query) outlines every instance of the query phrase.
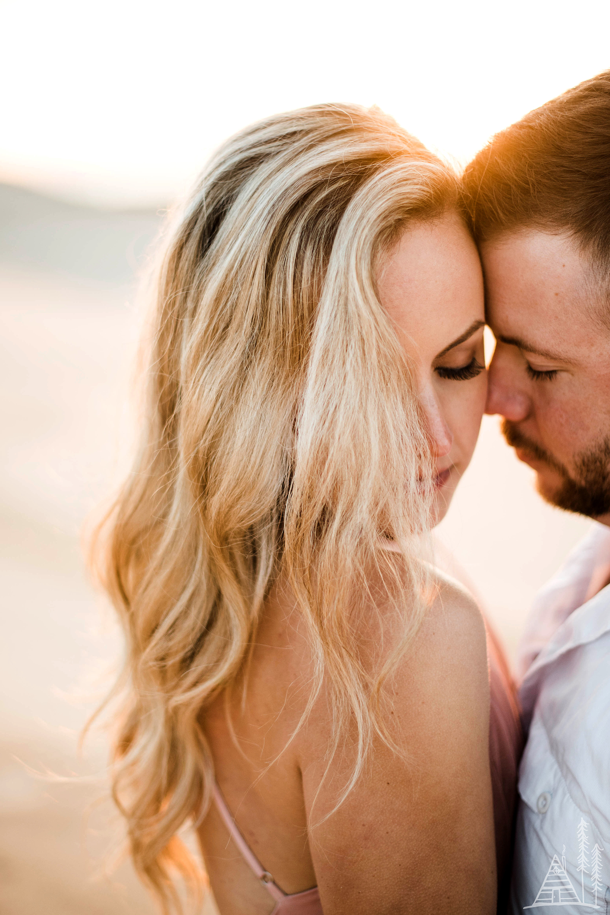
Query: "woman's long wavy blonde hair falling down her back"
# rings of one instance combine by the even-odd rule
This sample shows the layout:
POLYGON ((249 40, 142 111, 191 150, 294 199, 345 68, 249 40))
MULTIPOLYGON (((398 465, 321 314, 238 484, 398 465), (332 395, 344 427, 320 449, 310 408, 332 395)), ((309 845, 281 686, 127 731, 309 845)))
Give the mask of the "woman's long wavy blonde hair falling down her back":
POLYGON ((235 135, 169 228, 135 464, 92 551, 126 640, 114 800, 164 911, 180 908, 172 870, 197 871, 177 833, 209 804, 202 712, 243 673, 278 576, 314 660, 301 723, 322 682, 329 758, 355 721, 343 796, 375 733, 390 739, 379 695, 424 612, 433 462, 376 275, 409 221, 457 206, 452 170, 391 118, 325 104, 235 135), (404 622, 373 673, 353 625, 371 568, 404 622))

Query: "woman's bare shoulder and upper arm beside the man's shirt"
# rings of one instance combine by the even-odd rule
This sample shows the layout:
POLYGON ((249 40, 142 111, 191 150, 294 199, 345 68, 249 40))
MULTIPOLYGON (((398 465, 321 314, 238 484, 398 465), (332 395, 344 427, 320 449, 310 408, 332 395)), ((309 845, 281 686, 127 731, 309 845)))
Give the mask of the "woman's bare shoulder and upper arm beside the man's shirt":
MULTIPOLYGON (((433 571, 429 584, 419 629, 384 686, 381 714, 401 752, 375 738, 365 773, 336 808, 353 760, 346 746, 326 775, 323 715, 308 727, 301 771, 308 821, 320 823, 310 846, 325 911, 403 911, 405 899, 409 911, 426 910, 439 873, 455 913, 495 909, 485 625, 449 576, 433 571)), ((391 642, 391 612, 375 616, 391 642)))

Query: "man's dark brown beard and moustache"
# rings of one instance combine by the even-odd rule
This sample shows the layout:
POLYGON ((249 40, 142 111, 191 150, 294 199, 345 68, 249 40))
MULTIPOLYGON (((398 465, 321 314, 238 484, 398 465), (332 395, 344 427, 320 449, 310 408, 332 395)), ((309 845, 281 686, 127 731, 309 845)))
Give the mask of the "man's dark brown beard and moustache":
POLYGON ((589 518, 599 518, 610 511, 610 436, 592 448, 581 451, 574 459, 574 476, 548 451, 532 442, 519 431, 515 423, 505 419, 502 434, 512 447, 526 451, 532 458, 543 461, 558 473, 563 482, 554 492, 539 493, 551 505, 565 511, 575 511, 589 518))

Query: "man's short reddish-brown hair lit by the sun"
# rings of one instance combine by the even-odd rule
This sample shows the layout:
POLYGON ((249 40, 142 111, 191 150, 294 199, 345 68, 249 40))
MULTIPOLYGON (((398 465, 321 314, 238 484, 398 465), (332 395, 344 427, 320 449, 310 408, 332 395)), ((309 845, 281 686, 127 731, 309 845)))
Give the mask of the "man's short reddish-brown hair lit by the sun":
POLYGON ((569 231, 610 270, 610 70, 496 134, 464 172, 477 241, 569 231))

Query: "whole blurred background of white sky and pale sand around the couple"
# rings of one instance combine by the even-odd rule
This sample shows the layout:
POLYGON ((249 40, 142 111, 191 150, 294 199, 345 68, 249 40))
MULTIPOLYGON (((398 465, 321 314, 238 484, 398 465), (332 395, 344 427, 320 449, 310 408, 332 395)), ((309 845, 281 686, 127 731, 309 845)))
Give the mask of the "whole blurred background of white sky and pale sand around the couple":
MULTIPOLYGON (((120 653, 80 537, 128 451, 136 287, 167 208, 227 135, 312 102, 376 103, 463 164, 610 67, 610 7, 0 0, 0 22, 0 911, 136 915, 130 867, 104 870, 103 731, 77 751, 120 653)), ((485 417, 439 535, 511 656, 589 523, 539 500, 485 417)))

